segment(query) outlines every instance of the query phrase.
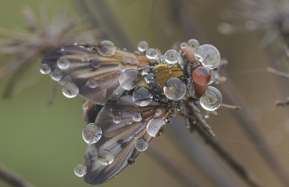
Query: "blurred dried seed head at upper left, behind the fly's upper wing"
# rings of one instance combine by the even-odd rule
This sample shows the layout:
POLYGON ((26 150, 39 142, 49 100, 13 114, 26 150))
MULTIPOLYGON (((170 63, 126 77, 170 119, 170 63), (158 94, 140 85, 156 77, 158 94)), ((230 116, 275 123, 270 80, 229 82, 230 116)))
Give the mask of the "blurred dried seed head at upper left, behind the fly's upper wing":
POLYGON ((22 15, 27 32, 0 28, 0 54, 13 57, 0 69, 0 78, 12 74, 5 97, 11 96, 18 75, 41 59, 43 54, 55 47, 93 41, 101 35, 99 29, 89 30, 80 24, 80 19, 71 16, 69 9, 64 7, 54 10, 50 19, 44 6, 39 8, 39 19, 29 7, 23 9, 22 15))

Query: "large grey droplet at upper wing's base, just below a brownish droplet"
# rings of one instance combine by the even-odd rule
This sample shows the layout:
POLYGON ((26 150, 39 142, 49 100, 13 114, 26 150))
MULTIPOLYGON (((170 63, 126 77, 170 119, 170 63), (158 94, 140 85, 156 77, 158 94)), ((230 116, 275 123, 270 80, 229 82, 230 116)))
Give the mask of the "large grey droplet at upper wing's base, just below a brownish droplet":
POLYGON ((136 69, 127 69, 119 76, 119 83, 125 90, 131 90, 142 79, 142 74, 136 69))

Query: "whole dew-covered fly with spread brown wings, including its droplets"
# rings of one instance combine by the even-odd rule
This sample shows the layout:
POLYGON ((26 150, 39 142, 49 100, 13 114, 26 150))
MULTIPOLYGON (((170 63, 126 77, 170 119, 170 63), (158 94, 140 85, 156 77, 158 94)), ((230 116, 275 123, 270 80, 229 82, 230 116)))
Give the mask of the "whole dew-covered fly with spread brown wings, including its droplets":
POLYGON ((87 183, 104 183, 134 163, 152 138, 165 132, 166 122, 182 114, 183 102, 200 99, 207 110, 221 104, 219 91, 208 86, 220 61, 216 48, 199 47, 192 39, 180 52, 157 57, 145 44, 139 44, 145 56, 102 41, 59 47, 42 60, 40 71, 63 85, 65 96, 87 100, 83 138, 88 146, 83 165, 75 167, 87 183))

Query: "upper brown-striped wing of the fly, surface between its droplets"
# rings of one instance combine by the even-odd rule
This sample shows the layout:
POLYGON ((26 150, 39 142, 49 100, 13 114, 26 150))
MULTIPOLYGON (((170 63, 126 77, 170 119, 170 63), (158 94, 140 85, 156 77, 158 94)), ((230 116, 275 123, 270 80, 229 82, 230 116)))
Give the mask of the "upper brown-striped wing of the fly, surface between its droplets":
MULTIPOLYGON (((73 82, 78 86, 79 95, 86 100, 104 105, 107 100, 116 100, 123 93, 124 89, 119 85, 119 59, 125 54, 134 54, 121 49, 116 49, 112 56, 102 56, 97 52, 98 46, 88 50, 84 45, 69 45, 59 47, 48 52, 42 59, 42 64, 48 64, 51 72, 54 69, 60 69, 57 60, 60 57, 67 57, 70 65, 66 69, 61 69, 63 77, 58 81, 61 85, 67 82, 73 82), (64 50, 63 50, 64 49, 64 50), (89 61, 83 62, 83 55, 88 55, 89 61), (95 68, 91 66, 91 61, 98 59, 100 66, 95 68), (91 88, 88 84, 91 79, 98 82, 96 88, 91 88)), ((139 67, 144 67, 150 61, 145 56, 134 54, 139 60, 139 67)))

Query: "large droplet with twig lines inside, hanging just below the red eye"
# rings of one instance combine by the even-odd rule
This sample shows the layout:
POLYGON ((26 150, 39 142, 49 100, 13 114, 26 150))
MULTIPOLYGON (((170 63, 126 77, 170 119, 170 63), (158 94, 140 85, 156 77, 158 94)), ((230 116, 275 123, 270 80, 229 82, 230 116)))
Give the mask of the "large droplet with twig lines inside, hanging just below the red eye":
POLYGON ((217 88, 209 86, 200 98, 200 103, 208 111, 218 109, 222 103, 221 92, 217 88))

